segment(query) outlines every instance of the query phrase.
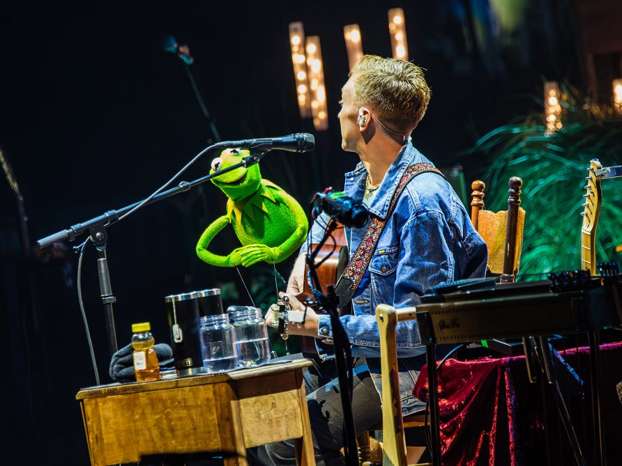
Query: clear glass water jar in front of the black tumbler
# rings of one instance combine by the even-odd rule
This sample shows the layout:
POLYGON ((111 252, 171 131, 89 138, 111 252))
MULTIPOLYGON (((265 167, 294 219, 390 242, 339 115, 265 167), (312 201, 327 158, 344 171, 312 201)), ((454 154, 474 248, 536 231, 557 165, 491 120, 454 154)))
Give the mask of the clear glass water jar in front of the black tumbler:
POLYGON ((226 372, 238 367, 236 336, 227 313, 201 318, 201 349, 207 373, 226 372))

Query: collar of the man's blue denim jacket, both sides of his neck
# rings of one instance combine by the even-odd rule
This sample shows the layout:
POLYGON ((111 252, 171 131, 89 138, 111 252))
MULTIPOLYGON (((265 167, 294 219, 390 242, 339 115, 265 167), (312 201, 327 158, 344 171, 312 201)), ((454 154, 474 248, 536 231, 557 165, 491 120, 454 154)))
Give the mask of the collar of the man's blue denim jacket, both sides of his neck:
MULTIPOLYGON (((411 141, 408 141, 402 146, 400 153, 390 165, 381 182, 377 196, 370 205, 367 205, 372 214, 381 219, 386 219, 393 193, 397 189, 397 183, 402 179, 404 171, 416 162, 428 162, 428 160, 413 147, 411 141)), ((367 170, 365 170, 363 163, 359 162, 354 171, 345 174, 344 192, 353 199, 361 201, 363 194, 365 194, 366 180, 367 170)))

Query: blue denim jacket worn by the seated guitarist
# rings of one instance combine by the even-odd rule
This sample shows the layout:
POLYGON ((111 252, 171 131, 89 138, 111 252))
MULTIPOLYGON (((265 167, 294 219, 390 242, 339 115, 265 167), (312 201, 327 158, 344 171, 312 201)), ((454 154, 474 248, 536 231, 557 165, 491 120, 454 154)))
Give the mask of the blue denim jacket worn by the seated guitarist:
MULTIPOLYGON (((431 163, 408 141, 367 206, 370 215, 386 219, 393 192, 402 174, 408 166, 418 162, 431 163)), ((344 193, 362 201, 366 178, 367 171, 359 163, 354 171, 346 173, 344 193)), ((321 240, 327 220, 328 217, 322 214, 314 222, 310 242, 321 240)), ((350 256, 363 238, 367 225, 346 228, 350 256)), ((354 315, 340 318, 352 345, 352 355, 367 358, 370 372, 379 373, 380 336, 376 306, 416 306, 420 303, 420 296, 433 286, 458 279, 483 277, 486 264, 486 244, 473 228, 467 210, 450 184, 437 173, 421 173, 413 178, 400 194, 380 235, 370 266, 354 293, 354 315)), ((330 317, 320 315, 318 318, 319 336, 332 336, 330 317)), ((413 357, 424 352, 416 322, 398 323, 397 356, 412 358, 413 361, 423 360, 413 357)), ((407 360, 401 359, 400 363, 406 364, 407 360)), ((415 368, 404 364, 400 364, 400 385, 404 371, 414 375, 416 380, 415 368)), ((414 381, 403 385, 406 385, 404 389, 408 386, 412 389, 414 381)), ((403 407, 406 408, 404 411, 409 411, 403 407)))

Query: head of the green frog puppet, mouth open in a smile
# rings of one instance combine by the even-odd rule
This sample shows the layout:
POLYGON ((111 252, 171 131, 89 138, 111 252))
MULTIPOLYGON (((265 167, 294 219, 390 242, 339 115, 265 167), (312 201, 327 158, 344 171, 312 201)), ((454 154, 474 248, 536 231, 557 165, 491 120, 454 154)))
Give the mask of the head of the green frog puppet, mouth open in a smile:
MULTIPOLYGON (((243 157, 248 157, 250 152, 246 149, 225 149, 220 153, 220 157, 212 160, 212 166, 209 173, 216 173, 229 166, 238 164, 243 157)), ((222 173, 221 176, 212 178, 211 182, 222 189, 229 199, 234 202, 251 196, 261 184, 261 171, 259 165, 255 164, 245 168, 238 167, 235 170, 222 173)))

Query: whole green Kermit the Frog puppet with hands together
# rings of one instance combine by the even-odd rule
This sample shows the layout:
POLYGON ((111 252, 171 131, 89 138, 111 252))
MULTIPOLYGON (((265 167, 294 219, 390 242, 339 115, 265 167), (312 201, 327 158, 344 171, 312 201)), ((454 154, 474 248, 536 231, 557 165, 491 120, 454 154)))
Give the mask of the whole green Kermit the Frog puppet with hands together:
MULTIPOLYGON (((210 173, 241 162, 248 150, 223 150, 212 161, 210 173)), ((305 211, 296 200, 273 182, 261 179, 259 165, 243 166, 212 178, 211 182, 222 189, 229 200, 227 215, 212 222, 199 242, 197 256, 217 267, 248 267, 259 261, 280 263, 303 244, 309 223, 305 211), (227 256, 208 251, 209 244, 231 224, 242 247, 227 256)))

